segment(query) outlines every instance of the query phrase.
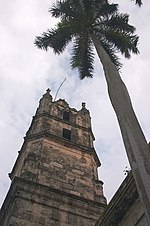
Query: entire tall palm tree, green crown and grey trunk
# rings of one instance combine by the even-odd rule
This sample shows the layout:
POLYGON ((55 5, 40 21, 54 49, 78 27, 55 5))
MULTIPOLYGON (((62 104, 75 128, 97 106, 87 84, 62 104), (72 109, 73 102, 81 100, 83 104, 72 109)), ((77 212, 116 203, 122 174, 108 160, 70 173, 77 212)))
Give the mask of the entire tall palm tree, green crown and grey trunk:
POLYGON ((128 23, 127 14, 118 12, 117 4, 107 0, 63 0, 50 9, 53 17, 60 18, 54 29, 36 37, 35 45, 62 53, 73 41, 71 67, 77 68, 80 78, 93 77, 95 47, 108 86, 112 106, 116 112, 122 138, 150 225, 150 157, 147 141, 135 116, 131 100, 119 69, 116 55, 126 58, 138 53, 138 36, 128 23))

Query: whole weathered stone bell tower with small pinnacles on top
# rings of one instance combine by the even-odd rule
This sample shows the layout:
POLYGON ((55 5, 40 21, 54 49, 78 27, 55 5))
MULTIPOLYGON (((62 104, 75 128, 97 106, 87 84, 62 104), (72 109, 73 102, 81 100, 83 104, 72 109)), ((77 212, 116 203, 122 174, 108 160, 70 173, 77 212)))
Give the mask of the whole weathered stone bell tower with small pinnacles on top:
POLYGON ((106 206, 89 111, 43 95, 9 174, 1 226, 92 226, 106 206))

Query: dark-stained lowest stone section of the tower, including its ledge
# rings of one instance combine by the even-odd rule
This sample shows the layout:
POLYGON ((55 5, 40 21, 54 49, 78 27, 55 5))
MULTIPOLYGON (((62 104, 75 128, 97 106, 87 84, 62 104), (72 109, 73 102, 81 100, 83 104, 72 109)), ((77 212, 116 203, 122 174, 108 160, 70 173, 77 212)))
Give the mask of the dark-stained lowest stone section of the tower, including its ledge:
POLYGON ((15 178, 2 206, 1 226, 92 226, 105 205, 15 178))

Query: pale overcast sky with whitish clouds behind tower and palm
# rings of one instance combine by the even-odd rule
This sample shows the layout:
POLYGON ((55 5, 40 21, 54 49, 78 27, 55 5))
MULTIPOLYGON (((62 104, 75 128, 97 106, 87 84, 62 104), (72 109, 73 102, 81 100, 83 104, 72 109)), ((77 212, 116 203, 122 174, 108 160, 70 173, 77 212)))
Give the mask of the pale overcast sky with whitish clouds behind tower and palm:
MULTIPOLYGON (((144 0, 143 0, 144 1, 144 0)), ((60 83, 58 98, 70 107, 86 102, 92 117, 95 148, 102 163, 99 178, 108 200, 114 195, 128 166, 116 116, 111 107, 103 71, 95 60, 93 79, 80 81, 69 67, 69 49, 61 56, 34 46, 40 35, 56 21, 48 9, 51 0, 0 1, 0 205, 10 186, 8 173, 15 163, 23 137, 35 114, 38 102, 49 87, 53 97, 60 83)), ((115 2, 115 1, 114 1, 115 2)), ((121 76, 147 141, 150 140, 150 1, 138 8, 130 0, 117 0, 120 11, 130 14, 130 22, 140 36, 140 55, 124 60, 121 76)))

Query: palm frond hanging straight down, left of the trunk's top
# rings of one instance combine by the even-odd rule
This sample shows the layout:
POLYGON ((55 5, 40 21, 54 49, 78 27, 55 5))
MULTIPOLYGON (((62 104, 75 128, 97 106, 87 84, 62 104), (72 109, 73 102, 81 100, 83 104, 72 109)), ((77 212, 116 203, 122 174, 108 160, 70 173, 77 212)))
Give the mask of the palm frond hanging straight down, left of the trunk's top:
POLYGON ((93 77, 94 53, 92 42, 85 33, 80 34, 74 40, 71 66, 77 68, 80 78, 93 77))

